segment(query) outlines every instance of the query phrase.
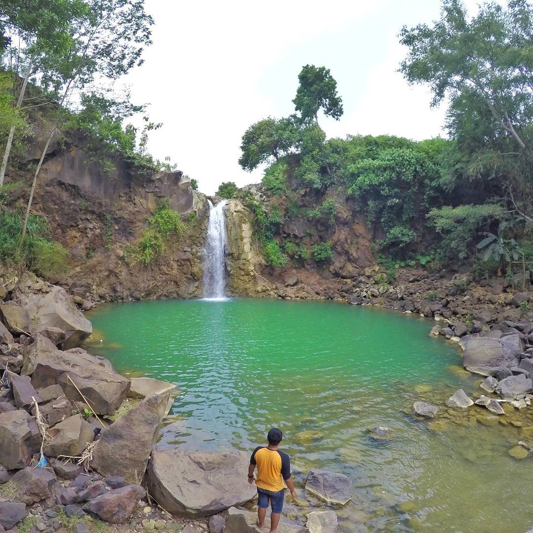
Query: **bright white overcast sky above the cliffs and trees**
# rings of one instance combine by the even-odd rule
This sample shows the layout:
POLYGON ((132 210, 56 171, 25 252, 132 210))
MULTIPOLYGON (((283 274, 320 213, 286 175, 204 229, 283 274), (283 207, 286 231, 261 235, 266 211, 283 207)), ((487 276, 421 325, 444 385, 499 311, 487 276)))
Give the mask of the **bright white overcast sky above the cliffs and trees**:
MULTIPOLYGON (((445 109, 431 109, 423 87, 397 72, 402 25, 439 17, 440 0, 146 0, 154 44, 125 78, 132 99, 154 122, 150 152, 171 157, 212 194, 220 182, 259 182, 262 170, 237 163, 246 128, 294 111, 303 65, 325 66, 337 80, 344 115, 319 117, 328 137, 443 135, 445 109)), ((468 0, 469 8, 477 5, 468 0)))

